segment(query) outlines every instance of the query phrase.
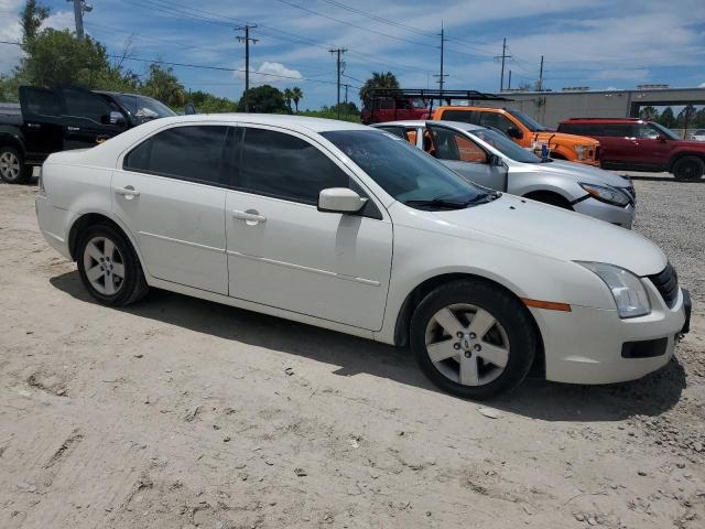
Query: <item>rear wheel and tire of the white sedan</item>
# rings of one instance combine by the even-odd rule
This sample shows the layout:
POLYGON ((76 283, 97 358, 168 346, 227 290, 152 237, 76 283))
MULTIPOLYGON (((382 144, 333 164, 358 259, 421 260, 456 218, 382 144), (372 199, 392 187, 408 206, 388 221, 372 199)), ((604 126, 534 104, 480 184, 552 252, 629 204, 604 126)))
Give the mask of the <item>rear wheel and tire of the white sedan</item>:
POLYGON ((115 226, 88 227, 76 255, 80 279, 100 304, 129 305, 147 294, 149 287, 137 253, 115 226))

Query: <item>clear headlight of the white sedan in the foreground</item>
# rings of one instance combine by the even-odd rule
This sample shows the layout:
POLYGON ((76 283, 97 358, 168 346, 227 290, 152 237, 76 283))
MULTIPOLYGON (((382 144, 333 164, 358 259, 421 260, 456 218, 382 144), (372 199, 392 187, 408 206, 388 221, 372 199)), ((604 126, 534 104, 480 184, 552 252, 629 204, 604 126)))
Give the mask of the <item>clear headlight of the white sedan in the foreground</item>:
POLYGON ((651 302, 639 277, 629 270, 605 262, 575 261, 594 272, 607 285, 617 304, 619 317, 644 316, 651 312, 651 302))

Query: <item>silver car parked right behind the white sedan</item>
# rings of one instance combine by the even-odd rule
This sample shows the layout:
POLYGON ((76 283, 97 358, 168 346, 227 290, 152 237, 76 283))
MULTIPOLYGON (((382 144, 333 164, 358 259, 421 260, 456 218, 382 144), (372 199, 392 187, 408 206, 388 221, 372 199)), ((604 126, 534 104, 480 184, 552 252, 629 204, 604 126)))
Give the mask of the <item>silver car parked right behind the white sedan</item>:
POLYGON ((498 130, 454 121, 392 121, 373 127, 408 140, 469 182, 631 228, 628 179, 589 165, 539 158, 498 130))

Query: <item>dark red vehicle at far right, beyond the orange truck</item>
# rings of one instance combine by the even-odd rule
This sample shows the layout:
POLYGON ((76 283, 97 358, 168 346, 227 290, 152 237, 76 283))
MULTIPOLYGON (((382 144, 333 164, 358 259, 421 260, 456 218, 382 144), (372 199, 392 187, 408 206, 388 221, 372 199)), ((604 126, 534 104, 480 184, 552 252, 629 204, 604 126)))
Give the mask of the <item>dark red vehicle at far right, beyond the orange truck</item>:
POLYGON ((638 118, 572 118, 558 132, 595 138, 604 169, 668 171, 677 180, 705 173, 705 142, 679 138, 665 127, 638 118))

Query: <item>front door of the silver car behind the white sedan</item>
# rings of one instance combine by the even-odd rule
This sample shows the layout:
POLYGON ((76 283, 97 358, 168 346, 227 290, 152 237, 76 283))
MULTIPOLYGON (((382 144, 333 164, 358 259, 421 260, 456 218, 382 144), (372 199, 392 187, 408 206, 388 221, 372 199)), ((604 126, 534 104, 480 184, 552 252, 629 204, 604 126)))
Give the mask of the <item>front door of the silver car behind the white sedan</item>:
POLYGON ((488 163, 488 153, 460 131, 431 122, 426 126, 432 141, 424 149, 433 149, 430 152, 441 163, 473 183, 505 191, 507 168, 488 163))

